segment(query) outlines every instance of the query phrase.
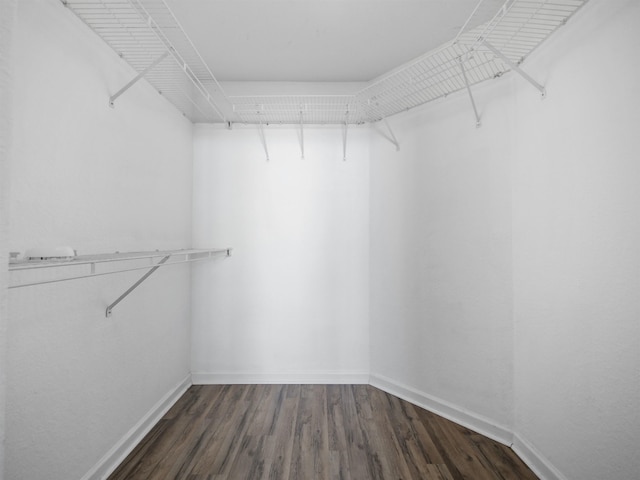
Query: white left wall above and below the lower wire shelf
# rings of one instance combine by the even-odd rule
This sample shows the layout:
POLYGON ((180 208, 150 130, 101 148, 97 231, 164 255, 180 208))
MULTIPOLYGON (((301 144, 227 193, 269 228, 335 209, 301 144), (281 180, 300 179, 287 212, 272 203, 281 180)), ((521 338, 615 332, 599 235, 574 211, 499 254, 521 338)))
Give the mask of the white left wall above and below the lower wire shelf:
MULTIPOLYGON (((189 247, 192 125, 144 82, 110 109, 134 72, 61 2, 17 3, 8 249, 189 247)), ((81 478, 188 381, 188 267, 104 316, 142 273, 10 290, 8 479, 81 478)))

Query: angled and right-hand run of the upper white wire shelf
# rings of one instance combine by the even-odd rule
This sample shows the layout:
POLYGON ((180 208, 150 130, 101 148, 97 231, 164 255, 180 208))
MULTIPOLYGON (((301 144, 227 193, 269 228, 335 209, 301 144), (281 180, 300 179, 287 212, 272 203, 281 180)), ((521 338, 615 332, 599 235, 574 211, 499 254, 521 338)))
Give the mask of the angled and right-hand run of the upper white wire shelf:
POLYGON ((499 77, 509 65, 492 45, 518 65, 587 0, 509 0, 489 22, 462 31, 455 40, 376 80, 356 95, 375 122, 390 115, 499 77))

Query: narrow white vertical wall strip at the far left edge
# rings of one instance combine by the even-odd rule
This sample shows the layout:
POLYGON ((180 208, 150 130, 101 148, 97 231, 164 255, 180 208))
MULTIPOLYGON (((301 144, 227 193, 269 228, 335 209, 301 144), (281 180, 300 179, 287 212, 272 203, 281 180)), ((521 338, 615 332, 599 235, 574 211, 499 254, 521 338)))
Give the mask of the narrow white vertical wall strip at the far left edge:
POLYGON ((4 478, 7 372, 9 145, 11 143, 11 40, 16 4, 0 2, 0 480, 4 478))

